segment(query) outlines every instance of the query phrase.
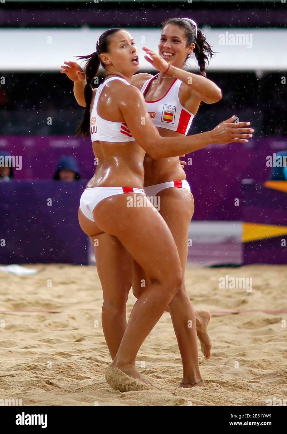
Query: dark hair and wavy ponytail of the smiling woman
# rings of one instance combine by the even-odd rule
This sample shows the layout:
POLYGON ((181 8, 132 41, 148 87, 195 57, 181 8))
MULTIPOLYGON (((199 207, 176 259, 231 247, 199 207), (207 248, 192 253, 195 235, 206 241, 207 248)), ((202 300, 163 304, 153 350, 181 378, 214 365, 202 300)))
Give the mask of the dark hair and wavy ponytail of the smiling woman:
MULTIPOLYGON (((187 47, 191 43, 195 43, 192 53, 194 53, 196 57, 201 75, 205 76, 205 68, 208 66, 209 58, 211 59, 212 56, 215 55, 209 43, 206 42, 205 35, 203 35, 202 32, 197 29, 196 23, 193 20, 190 20, 190 18, 170 18, 164 21, 162 26, 165 27, 167 24, 174 24, 185 31, 187 47)), ((186 57, 186 61, 189 59, 192 53, 186 57)))

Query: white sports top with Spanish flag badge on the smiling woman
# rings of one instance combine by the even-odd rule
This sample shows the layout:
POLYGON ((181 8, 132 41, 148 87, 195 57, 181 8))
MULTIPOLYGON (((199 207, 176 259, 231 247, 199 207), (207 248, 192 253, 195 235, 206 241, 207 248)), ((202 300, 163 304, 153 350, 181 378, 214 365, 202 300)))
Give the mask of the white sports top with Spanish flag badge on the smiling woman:
MULTIPOLYGON (((146 95, 150 83, 159 74, 143 83, 141 92, 146 95)), ((194 115, 179 102, 179 87, 182 82, 173 80, 166 94, 156 101, 147 101, 147 112, 156 127, 166 128, 187 135, 194 115)))

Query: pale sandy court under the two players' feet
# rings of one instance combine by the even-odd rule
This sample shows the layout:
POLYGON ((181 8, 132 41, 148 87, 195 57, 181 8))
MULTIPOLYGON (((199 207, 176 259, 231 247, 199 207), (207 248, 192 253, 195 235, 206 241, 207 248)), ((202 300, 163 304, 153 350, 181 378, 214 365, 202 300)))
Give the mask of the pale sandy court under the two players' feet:
MULTIPOLYGON (((186 286, 197 309, 253 312, 212 314, 212 356, 206 360, 199 352, 206 387, 192 389, 176 387, 181 360, 170 315, 164 313, 137 357, 140 372, 156 385, 126 393, 114 391, 104 379, 111 359, 101 329, 95 267, 28 267, 38 274, 0 273, 0 399, 22 399, 23 405, 168 406, 266 405, 273 397, 287 399, 287 313, 261 312, 287 312, 287 266, 188 266, 186 286), (252 277, 252 291, 219 289, 225 275, 252 277)), ((130 291, 128 312, 134 302, 130 291)))

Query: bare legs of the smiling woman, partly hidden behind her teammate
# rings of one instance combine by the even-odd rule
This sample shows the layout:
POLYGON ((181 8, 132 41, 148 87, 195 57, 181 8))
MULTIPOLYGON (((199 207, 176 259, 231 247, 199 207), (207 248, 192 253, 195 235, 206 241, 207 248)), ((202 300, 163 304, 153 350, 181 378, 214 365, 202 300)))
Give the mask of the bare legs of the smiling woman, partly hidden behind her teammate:
MULTIPOLYGON (((161 200, 160 214, 170 227, 179 252, 182 270, 185 270, 188 250, 188 227, 194 209, 192 194, 185 189, 169 188, 161 191, 158 195, 160 195, 161 200)), ((142 279, 145 279, 145 277, 140 271, 140 267, 138 264, 134 264, 133 291, 135 296, 138 296, 140 290, 142 290, 139 285, 142 279)), ((206 327, 210 319, 210 313, 208 311, 196 312, 193 309, 185 287, 170 302, 169 310, 183 361, 183 381, 196 383, 199 372, 196 331, 201 342, 202 352, 209 357, 211 342, 206 327)), ((188 386, 183 385, 183 387, 188 386)))

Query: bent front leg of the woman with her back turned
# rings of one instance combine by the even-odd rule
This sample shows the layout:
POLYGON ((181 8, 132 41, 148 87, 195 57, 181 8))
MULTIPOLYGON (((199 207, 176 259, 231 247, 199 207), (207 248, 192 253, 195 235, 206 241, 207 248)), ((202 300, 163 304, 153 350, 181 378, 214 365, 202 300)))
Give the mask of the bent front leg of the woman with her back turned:
POLYGON ((101 201, 94 210, 98 227, 116 236, 150 279, 134 305, 113 366, 137 377, 140 345, 183 283, 173 237, 153 207, 128 208, 125 194, 101 201))

